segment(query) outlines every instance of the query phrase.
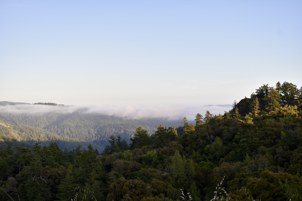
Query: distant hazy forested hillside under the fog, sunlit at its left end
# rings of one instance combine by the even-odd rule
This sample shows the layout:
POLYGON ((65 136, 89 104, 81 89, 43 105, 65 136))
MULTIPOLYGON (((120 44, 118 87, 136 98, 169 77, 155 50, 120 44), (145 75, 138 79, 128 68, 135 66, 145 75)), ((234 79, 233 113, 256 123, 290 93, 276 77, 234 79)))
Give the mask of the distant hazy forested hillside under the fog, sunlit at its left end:
MULTIPOLYGON (((153 133, 159 124, 168 127, 181 124, 181 120, 121 118, 98 113, 85 113, 87 108, 70 112, 68 111, 69 106, 54 103, 37 104, 42 105, 40 113, 33 113, 31 108, 25 110, 22 106, 18 108, 20 111, 8 109, 8 111, 0 112, 0 143, 6 142, 12 146, 32 146, 37 142, 40 142, 41 145, 49 145, 53 141, 60 148, 69 150, 75 149, 80 144, 87 146, 90 143, 99 151, 103 151, 111 135, 120 135, 129 143, 138 126, 143 126, 149 133, 153 133), (43 112, 44 105, 57 109, 43 112)), ((10 105, 14 104, 10 102, 10 105)), ((31 107, 35 106, 36 104, 31 105, 31 107)))

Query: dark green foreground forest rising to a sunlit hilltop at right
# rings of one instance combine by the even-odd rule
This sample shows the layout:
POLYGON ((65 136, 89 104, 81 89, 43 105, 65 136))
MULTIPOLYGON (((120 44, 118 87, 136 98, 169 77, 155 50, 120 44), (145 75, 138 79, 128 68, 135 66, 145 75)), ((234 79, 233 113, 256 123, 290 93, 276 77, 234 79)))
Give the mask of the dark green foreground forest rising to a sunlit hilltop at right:
MULTIPOLYGON (((101 153, 92 144, 60 148, 56 129, 46 133, 54 136, 49 145, 2 138, 0 197, 302 200, 301 117, 302 87, 278 82, 260 86, 223 115, 197 113, 194 123, 184 117, 179 127, 159 124, 155 131, 139 126, 129 140, 112 134, 101 153)), ((21 121, 5 118, 10 125, 21 121)), ((1 135, 9 131, 5 122, 1 135)))

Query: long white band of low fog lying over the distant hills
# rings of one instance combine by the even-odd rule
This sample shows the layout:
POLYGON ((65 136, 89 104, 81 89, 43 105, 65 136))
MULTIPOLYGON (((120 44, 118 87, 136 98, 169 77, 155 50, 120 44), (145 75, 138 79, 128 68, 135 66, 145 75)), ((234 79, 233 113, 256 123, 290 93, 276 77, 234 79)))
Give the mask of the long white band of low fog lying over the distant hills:
POLYGON ((88 114, 114 115, 123 118, 167 118, 171 120, 184 117, 194 120, 195 115, 204 115, 210 111, 213 115, 224 114, 232 105, 92 105, 89 107, 63 106, 63 105, 4 105, 0 106, 0 113, 26 113, 39 115, 43 113, 73 113, 82 112, 88 114))

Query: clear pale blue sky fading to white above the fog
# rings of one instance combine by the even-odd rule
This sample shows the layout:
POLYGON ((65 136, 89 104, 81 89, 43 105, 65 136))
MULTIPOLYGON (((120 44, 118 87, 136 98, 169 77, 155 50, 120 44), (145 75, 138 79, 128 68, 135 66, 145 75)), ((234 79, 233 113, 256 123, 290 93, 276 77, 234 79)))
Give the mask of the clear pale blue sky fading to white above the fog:
POLYGON ((301 75, 300 0, 0 1, 0 101, 192 108, 301 75))

